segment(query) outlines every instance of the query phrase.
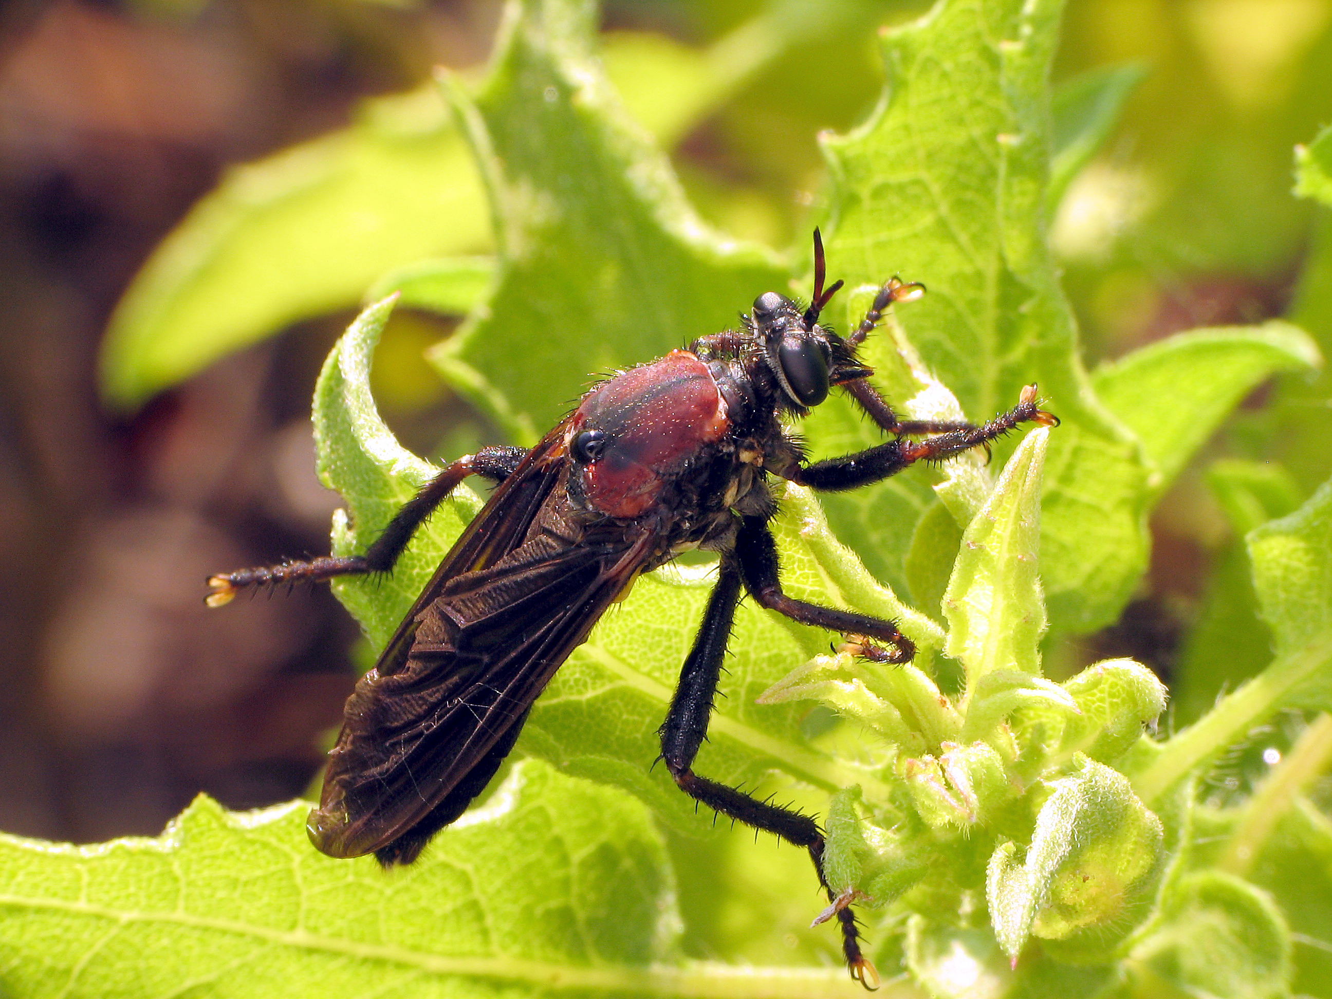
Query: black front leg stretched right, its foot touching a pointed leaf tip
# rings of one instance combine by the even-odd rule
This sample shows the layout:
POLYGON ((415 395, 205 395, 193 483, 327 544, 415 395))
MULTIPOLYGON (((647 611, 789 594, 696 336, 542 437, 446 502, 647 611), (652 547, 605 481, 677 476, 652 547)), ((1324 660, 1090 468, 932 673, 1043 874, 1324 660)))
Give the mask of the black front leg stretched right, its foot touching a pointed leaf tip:
MULTIPOLYGON (((1016 406, 980 426, 952 425, 952 429, 946 433, 927 437, 923 441, 887 441, 878 448, 806 465, 803 469, 793 472, 790 480, 810 486, 810 489, 830 493, 855 489, 895 476, 918 461, 943 461, 972 448, 986 446, 1020 424, 1040 424, 1042 426, 1058 426, 1059 424, 1059 417, 1036 406, 1035 385, 1028 385, 1022 390, 1016 406)), ((907 428, 902 433, 916 433, 915 426, 930 425, 899 424, 899 426, 907 428)), ((936 424, 935 426, 948 425, 936 424)))

